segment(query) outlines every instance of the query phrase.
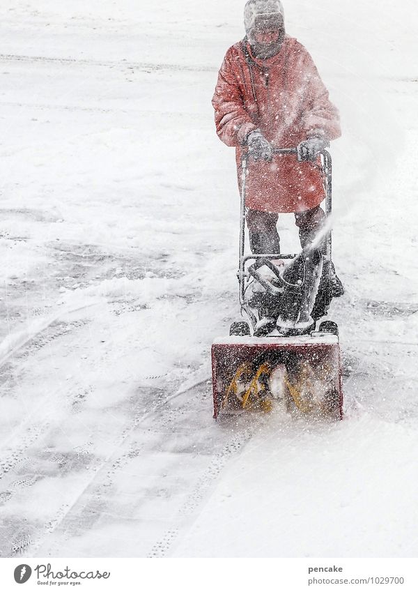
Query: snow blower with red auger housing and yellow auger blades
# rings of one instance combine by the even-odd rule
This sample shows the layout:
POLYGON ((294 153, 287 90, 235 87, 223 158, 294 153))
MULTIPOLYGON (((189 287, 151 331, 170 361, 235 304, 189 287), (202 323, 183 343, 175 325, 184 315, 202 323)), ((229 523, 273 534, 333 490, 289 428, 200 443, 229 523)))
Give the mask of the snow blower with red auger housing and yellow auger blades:
MULTIPOLYGON (((295 155, 296 149, 274 149, 295 155)), ((332 160, 320 153, 325 209, 332 210, 332 160)), ((242 156, 240 257, 241 313, 229 337, 212 344, 213 416, 269 412, 278 402, 291 413, 341 419, 343 391, 338 327, 322 321, 334 296, 330 277, 332 233, 325 249, 299 254, 245 255, 247 155, 242 156)))

